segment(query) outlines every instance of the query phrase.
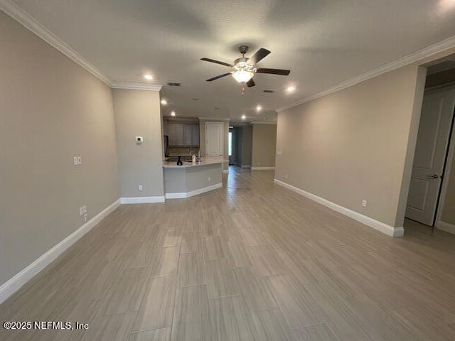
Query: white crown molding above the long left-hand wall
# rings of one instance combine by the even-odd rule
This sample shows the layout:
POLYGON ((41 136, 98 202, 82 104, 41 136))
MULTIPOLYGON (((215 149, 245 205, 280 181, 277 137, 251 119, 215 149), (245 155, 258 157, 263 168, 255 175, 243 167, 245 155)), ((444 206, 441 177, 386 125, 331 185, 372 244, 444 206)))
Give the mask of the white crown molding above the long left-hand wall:
POLYGON ((14 2, 12 2, 11 0, 0 0, 0 9, 9 16, 11 16, 12 18, 14 18, 19 23, 21 23, 23 26, 28 28, 28 30, 35 33, 36 36, 45 40, 45 42, 49 43, 54 48, 59 50, 61 53, 66 55, 68 58, 73 60, 75 63, 84 67, 85 70, 90 72, 98 79, 102 80, 102 82, 105 82, 109 86, 112 84, 109 78, 103 75, 102 72, 97 69, 97 67, 90 64, 87 60, 85 60, 85 58, 82 57, 82 55, 73 50, 73 48, 71 48, 63 40, 58 38, 58 36, 55 36, 55 34, 53 34, 47 28, 45 28, 43 24, 38 22, 30 14, 28 14, 26 11, 24 11, 19 6, 14 4, 14 2))

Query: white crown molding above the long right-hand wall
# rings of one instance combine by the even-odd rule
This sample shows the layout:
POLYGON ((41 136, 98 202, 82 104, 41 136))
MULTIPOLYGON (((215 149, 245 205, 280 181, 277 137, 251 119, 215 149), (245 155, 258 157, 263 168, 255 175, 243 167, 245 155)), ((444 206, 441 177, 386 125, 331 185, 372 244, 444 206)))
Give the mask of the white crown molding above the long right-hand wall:
POLYGON ((370 70, 368 72, 363 73, 362 75, 358 75, 356 77, 350 78, 350 80, 346 80, 344 82, 339 83, 338 85, 335 85, 333 87, 329 87, 326 90, 323 90, 321 92, 318 92, 316 94, 313 94, 309 97, 305 97, 304 99, 301 99, 297 102, 294 102, 292 104, 286 105, 284 107, 276 109, 277 112, 283 112, 286 109, 296 107, 299 104, 304 104, 306 102, 310 102, 314 99, 318 99, 320 97, 326 96, 328 94, 331 94, 333 92, 339 91, 346 89, 348 87, 352 87, 353 85, 356 85, 360 82, 364 82, 365 80, 370 80, 373 77, 382 75, 386 72, 390 72, 393 70, 396 70, 400 67, 409 65, 411 63, 417 62, 418 60, 422 60, 424 58, 427 58, 431 55, 434 55, 436 53, 441 53, 444 50, 447 50, 449 48, 454 48, 455 47, 455 36, 451 36, 449 38, 446 38, 444 40, 439 41, 439 43, 435 43, 433 45, 429 45, 426 48, 422 48, 420 50, 417 50, 413 53, 410 53, 409 55, 405 55, 402 58, 398 58, 396 60, 393 60, 390 63, 387 63, 385 65, 381 65, 380 67, 376 67, 373 70, 370 70))

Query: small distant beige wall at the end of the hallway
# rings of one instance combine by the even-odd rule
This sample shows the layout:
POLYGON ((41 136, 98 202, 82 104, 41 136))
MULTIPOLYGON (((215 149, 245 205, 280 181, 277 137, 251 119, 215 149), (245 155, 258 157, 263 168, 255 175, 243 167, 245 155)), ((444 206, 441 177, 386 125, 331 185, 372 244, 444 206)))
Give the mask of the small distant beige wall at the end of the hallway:
POLYGON ((276 124, 252 125, 252 167, 274 167, 277 148, 276 124))

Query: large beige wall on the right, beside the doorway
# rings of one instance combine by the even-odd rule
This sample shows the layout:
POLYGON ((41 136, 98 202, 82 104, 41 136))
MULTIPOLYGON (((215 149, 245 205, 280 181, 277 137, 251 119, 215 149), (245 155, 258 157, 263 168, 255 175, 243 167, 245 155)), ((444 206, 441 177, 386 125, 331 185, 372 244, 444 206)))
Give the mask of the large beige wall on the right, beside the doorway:
POLYGON ((402 226, 424 73, 402 67, 279 113, 276 178, 402 226))

